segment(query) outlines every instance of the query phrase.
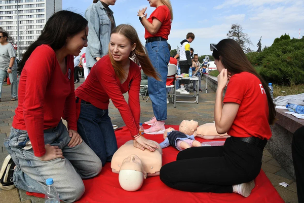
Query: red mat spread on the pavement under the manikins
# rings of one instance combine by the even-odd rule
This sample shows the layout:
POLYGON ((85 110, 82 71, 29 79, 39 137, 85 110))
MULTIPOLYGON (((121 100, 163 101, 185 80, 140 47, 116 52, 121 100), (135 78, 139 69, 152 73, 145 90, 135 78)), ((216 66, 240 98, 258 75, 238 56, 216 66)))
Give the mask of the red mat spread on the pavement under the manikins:
MULTIPOLYGON (((148 127, 148 125, 144 125, 145 129, 148 127)), ((173 127, 178 130, 177 125, 166 125, 166 128, 168 127, 173 127)), ((130 140, 130 132, 126 126, 117 129, 115 134, 118 147, 130 140)), ((144 137, 158 143, 164 141, 162 134, 145 134, 144 137)), ((196 140, 209 142, 201 138, 196 138, 196 140)), ((178 152, 179 151, 171 146, 163 149, 163 165, 175 161, 178 152)), ((160 180, 159 176, 147 177, 138 191, 127 192, 121 188, 118 181, 118 174, 112 173, 110 165, 110 163, 106 163, 98 176, 83 180, 86 191, 77 202, 284 202, 262 170, 255 179, 255 187, 251 194, 245 198, 236 193, 217 194, 211 192, 183 192, 175 190, 166 186, 160 180)), ((39 193, 26 192, 26 194, 44 197, 44 194, 39 193)))

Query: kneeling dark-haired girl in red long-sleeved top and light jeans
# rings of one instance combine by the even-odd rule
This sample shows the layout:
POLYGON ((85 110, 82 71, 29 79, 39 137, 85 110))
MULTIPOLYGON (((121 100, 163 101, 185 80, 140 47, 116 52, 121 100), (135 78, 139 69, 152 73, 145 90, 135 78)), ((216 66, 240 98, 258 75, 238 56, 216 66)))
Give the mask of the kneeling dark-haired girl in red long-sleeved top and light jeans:
POLYGON ((60 199, 74 202, 85 191, 82 179, 101 171, 101 161, 77 132, 75 114, 73 55, 87 46, 87 35, 84 17, 59 11, 25 52, 18 107, 4 143, 10 155, 0 171, 1 188, 12 189, 15 184, 45 193, 46 180, 52 178, 60 199))

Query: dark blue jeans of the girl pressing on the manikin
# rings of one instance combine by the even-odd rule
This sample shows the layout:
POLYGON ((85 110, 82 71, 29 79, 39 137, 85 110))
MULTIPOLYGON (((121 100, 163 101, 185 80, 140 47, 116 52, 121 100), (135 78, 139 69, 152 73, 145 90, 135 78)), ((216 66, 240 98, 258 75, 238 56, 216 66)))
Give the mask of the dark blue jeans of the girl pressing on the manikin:
POLYGON ((111 119, 107 109, 98 109, 83 102, 85 101, 82 100, 77 122, 78 132, 104 165, 106 161, 112 160, 118 149, 111 119))

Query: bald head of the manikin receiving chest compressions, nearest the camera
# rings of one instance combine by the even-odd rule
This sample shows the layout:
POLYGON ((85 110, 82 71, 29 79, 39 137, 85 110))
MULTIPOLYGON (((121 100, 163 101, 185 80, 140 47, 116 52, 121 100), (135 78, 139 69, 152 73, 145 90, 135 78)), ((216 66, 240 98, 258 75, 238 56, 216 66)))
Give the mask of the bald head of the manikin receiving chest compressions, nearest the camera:
POLYGON ((141 188, 146 172, 138 156, 131 154, 124 159, 119 172, 119 184, 126 191, 136 191, 141 188))

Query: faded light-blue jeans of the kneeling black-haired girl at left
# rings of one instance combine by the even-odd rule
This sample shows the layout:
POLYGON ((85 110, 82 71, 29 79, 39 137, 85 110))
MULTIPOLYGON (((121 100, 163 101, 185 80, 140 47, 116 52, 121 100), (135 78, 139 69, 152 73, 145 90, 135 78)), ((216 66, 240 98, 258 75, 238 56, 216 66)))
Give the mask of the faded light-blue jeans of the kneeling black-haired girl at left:
POLYGON ((102 165, 96 154, 83 142, 68 147, 71 138, 68 131, 59 122, 57 127, 44 130, 45 144, 58 146, 64 159, 56 158, 42 161, 33 153, 26 130, 11 128, 11 135, 4 146, 16 163, 13 182, 17 188, 29 192, 45 193, 46 180, 53 178, 61 200, 74 202, 85 192, 82 179, 99 174, 102 165))

